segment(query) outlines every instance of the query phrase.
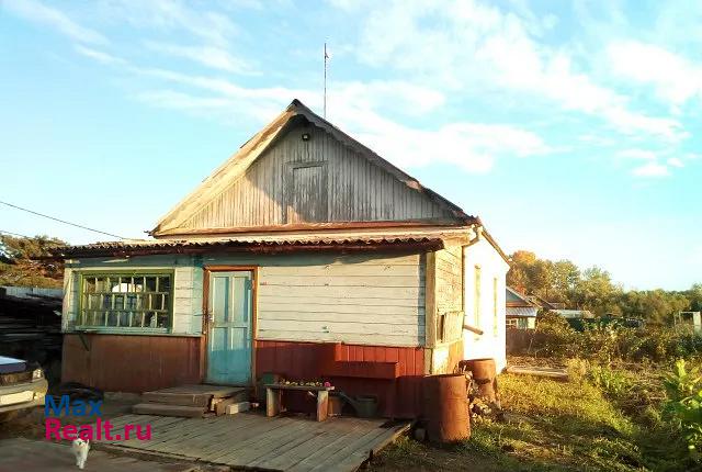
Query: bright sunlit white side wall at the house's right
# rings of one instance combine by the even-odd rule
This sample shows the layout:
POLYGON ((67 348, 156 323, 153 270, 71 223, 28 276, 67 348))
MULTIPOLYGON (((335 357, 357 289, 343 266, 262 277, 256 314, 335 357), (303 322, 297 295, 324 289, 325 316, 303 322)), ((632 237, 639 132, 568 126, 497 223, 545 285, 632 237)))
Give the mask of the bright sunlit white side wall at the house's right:
POLYGON ((492 358, 498 371, 507 366, 505 340, 505 279, 509 270, 508 263, 485 238, 465 247, 465 323, 483 329, 483 335, 463 331, 464 359, 492 358), (476 321, 475 310, 475 267, 480 268, 479 315, 476 321), (497 324, 494 316, 494 279, 497 278, 497 324))

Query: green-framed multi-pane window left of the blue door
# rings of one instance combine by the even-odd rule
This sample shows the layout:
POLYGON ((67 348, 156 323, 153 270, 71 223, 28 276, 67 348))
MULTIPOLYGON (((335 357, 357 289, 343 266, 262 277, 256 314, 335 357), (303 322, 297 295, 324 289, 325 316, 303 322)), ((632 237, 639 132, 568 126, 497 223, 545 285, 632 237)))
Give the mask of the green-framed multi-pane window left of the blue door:
POLYGON ((171 272, 82 273, 77 327, 167 331, 171 272))

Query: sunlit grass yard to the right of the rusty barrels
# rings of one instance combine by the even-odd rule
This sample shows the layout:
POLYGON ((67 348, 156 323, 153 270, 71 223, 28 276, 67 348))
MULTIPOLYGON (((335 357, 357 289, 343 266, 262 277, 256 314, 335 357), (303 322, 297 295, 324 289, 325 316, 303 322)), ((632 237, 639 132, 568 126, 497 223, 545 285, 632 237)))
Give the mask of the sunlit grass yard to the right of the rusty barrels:
POLYGON ((370 470, 702 470, 660 420, 658 405, 644 404, 658 397, 642 394, 656 390, 655 381, 624 370, 600 372, 599 381, 588 375, 570 382, 500 375, 502 420, 473 422, 469 440, 445 447, 405 438, 370 470), (638 408, 632 397, 643 398, 638 408))

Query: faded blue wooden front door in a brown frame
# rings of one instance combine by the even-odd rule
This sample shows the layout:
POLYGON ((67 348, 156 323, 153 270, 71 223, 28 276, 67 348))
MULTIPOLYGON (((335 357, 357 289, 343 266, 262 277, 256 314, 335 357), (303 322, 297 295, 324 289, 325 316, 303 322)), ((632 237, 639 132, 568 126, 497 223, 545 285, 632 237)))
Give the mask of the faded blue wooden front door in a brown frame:
POLYGON ((210 273, 207 382, 251 382, 252 277, 250 271, 210 273))

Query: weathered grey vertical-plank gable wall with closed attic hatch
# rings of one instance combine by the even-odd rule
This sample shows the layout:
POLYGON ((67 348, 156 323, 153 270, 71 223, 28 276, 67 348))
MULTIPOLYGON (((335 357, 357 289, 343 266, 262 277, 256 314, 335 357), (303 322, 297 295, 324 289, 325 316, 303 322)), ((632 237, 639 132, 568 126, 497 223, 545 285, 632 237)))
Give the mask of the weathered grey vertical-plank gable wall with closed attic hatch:
POLYGON ((288 132, 242 177, 194 211, 179 228, 451 217, 435 201, 408 188, 322 130, 310 126, 288 132), (310 134, 307 142, 301 138, 303 130, 310 134), (318 176, 307 179, 307 186, 293 186, 294 170, 305 167, 314 168, 318 176), (294 191, 305 194, 293 194, 294 191), (295 209, 295 202, 306 206, 295 209), (326 209, 317 207, 319 204, 326 209))

